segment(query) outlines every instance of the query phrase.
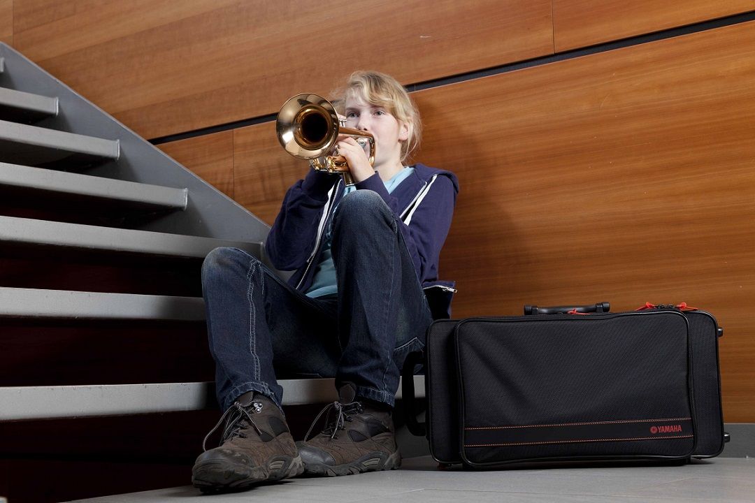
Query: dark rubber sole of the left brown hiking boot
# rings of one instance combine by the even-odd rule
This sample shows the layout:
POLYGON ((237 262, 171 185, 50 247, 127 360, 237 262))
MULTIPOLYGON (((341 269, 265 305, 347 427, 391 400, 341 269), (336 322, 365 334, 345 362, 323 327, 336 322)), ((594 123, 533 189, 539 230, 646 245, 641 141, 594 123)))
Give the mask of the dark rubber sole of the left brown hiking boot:
POLYGON ((296 477, 302 473, 304 465, 300 456, 276 456, 268 462, 267 470, 262 467, 229 467, 227 463, 206 462, 194 466, 192 483, 202 492, 237 491, 260 483, 296 477))

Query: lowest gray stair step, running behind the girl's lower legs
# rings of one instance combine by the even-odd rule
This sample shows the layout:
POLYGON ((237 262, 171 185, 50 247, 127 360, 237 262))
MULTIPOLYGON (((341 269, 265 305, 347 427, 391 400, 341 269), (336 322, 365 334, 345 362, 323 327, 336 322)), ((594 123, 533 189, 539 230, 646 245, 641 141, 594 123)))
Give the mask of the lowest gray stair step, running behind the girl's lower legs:
MULTIPOLYGON (((338 399, 334 379, 280 379, 283 405, 328 403, 338 399)), ((424 376, 414 376, 424 397, 424 376)), ((171 413, 215 406, 214 382, 132 385, 29 386, 0 388, 0 421, 84 416, 171 413)), ((401 384, 396 398, 401 398, 401 384)))

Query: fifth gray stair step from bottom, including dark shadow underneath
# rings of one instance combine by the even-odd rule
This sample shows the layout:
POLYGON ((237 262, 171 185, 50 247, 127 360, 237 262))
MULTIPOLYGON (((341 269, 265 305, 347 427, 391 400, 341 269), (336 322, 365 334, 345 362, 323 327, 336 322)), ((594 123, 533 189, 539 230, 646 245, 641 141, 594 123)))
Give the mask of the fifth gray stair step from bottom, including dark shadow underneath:
POLYGON ((0 152, 2 161, 16 164, 57 161, 75 154, 116 160, 120 143, 119 140, 0 120, 0 152))

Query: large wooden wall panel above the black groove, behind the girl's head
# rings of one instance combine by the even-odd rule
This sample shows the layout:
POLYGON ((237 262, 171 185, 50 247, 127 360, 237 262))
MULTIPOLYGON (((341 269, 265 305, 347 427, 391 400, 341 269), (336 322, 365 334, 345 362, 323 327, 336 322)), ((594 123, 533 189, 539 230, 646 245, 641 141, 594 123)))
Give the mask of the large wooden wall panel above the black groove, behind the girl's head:
POLYGON ((15 47, 146 138, 277 112, 353 69, 408 84, 553 52, 550 0, 15 5, 15 47))

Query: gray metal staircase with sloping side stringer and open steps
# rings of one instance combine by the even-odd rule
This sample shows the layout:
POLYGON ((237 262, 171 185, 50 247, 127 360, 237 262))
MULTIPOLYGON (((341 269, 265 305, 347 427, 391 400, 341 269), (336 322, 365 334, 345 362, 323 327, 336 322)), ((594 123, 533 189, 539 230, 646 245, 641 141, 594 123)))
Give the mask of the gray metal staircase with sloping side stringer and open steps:
MULTIPOLYGON (((13 329, 3 330, 11 339, 0 335, 0 344, 13 348, 21 336, 29 339, 27 333, 33 339, 40 323, 137 324, 134 330, 148 332, 152 324, 180 322, 199 324, 193 330, 202 331, 205 310, 196 286, 202 259, 215 247, 237 247, 263 257, 268 229, 0 44, 0 327, 13 329), (115 279, 80 280, 92 276, 85 271, 88 262, 107 271, 125 264, 126 271, 113 273, 115 279), (14 268, 19 263, 23 271, 40 271, 45 287, 35 287, 40 281, 35 285, 31 278, 38 275, 29 275, 25 283, 23 271, 14 268), (140 268, 148 272, 134 280, 136 287, 118 281, 140 268), (194 286, 179 283, 165 295, 159 278, 152 284, 149 268, 176 268, 177 275, 189 271, 187 282, 194 286), (79 287, 89 282, 91 290, 72 288, 72 277, 79 287), (23 332, 23 327, 29 330, 23 332), (14 330, 21 335, 14 336, 14 330)), ((85 355, 99 357, 94 350, 85 355)), ((155 413, 212 403, 208 382, 113 383, 116 378, 109 376, 100 383, 95 376, 82 381, 53 373, 27 379, 19 368, 39 374, 39 367, 33 361, 8 364, 14 358, 21 356, 5 351, 0 357, 0 369, 8 372, 0 370, 0 421, 155 413)))

